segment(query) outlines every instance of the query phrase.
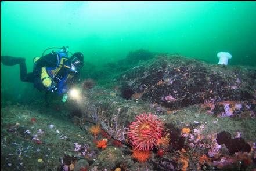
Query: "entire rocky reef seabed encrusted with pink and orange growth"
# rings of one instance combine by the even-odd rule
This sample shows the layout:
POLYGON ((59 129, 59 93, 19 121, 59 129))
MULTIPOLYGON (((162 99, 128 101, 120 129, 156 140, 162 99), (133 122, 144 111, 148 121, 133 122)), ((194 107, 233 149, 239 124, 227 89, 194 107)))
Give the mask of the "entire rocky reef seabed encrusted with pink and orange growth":
MULTIPOLYGON (((91 67, 86 72, 84 79, 88 81, 80 85, 81 98, 70 99, 64 104, 65 110, 55 111, 67 119, 63 122, 66 126, 49 119, 47 112, 53 116, 52 110, 56 108, 42 111, 30 105, 1 108, 1 168, 12 170, 23 163, 19 167, 27 169, 27 163, 32 162, 28 158, 26 164, 21 162, 15 151, 24 147, 10 145, 15 136, 20 144, 25 141, 44 152, 55 147, 55 154, 48 152, 47 157, 42 151, 40 155, 31 152, 34 158, 42 159, 43 162, 34 161, 38 163, 34 167, 40 169, 74 170, 78 163, 84 163, 78 168, 84 170, 255 168, 255 68, 212 65, 178 54, 140 49, 116 64, 91 67), (143 148, 147 149, 145 153, 135 152, 127 134, 129 125, 142 113, 153 114, 156 117, 149 118, 163 122, 161 136, 154 136, 157 138, 153 145, 143 148), (36 121, 32 121, 33 117, 36 121), (97 126, 92 129, 93 125, 97 126), (44 133, 38 132, 39 129, 44 133), (59 143, 62 147, 56 145, 59 143), (8 154, 8 148, 13 150, 12 155, 8 154), (50 155, 55 159, 49 161, 50 155)), ((153 128, 150 121, 140 121, 147 123, 139 126, 134 122, 139 130, 136 135, 149 136, 147 130, 153 128)), ((154 122, 157 123, 160 122, 154 122)))

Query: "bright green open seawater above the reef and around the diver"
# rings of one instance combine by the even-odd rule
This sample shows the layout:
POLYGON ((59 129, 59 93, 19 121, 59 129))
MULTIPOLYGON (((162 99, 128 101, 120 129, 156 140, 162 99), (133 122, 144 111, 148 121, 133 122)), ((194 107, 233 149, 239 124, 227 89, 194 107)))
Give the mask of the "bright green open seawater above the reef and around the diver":
MULTIPOLYGON (((1 2, 1 55, 26 57, 28 72, 46 48, 66 45, 99 67, 141 48, 211 64, 224 51, 229 65, 256 66, 255 9, 256 2, 1 2)), ((19 66, 1 63, 2 97, 33 91, 19 66)))

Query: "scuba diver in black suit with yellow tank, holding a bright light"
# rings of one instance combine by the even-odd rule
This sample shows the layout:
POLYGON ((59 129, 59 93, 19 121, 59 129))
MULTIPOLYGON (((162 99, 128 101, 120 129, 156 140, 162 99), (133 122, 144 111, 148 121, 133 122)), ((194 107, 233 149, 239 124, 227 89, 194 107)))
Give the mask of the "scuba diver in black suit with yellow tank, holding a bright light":
POLYGON ((68 86, 79 81, 80 69, 84 66, 84 56, 81 52, 71 53, 68 57, 68 46, 63 48, 48 48, 42 53, 42 57, 34 57, 33 72, 27 73, 25 58, 1 56, 2 64, 6 66, 20 65, 20 80, 22 82, 34 83, 34 87, 40 92, 46 90, 45 100, 48 106, 48 92, 63 94, 62 101, 68 98, 68 86), (46 50, 60 49, 44 55, 46 50))

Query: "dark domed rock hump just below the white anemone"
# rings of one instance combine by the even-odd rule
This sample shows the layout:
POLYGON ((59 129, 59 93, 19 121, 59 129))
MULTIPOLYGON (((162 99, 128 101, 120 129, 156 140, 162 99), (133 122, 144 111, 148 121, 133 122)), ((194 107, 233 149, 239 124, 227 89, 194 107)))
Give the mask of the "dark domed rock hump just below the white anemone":
POLYGON ((142 100, 172 110, 188 105, 254 98, 255 68, 216 66, 178 55, 145 61, 117 79, 142 100))

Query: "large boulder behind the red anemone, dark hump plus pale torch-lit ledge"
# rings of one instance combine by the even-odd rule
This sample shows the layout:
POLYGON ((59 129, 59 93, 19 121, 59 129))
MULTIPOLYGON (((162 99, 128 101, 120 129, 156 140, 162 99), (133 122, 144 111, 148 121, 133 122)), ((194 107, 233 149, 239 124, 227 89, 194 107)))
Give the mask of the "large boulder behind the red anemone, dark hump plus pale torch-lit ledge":
POLYGON ((241 112, 253 114, 255 110, 255 68, 210 65, 164 55, 113 80, 113 87, 120 85, 121 90, 96 86, 84 92, 84 99, 75 105, 80 105, 83 117, 100 123, 110 136, 123 143, 129 123, 143 112, 152 112, 165 123, 173 123, 169 118, 174 110, 196 104, 205 104, 208 110, 207 104, 211 103, 210 112, 218 116, 229 115, 231 110, 230 116, 241 112))

